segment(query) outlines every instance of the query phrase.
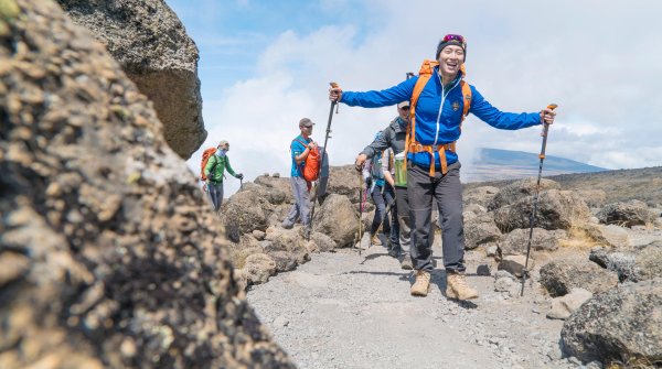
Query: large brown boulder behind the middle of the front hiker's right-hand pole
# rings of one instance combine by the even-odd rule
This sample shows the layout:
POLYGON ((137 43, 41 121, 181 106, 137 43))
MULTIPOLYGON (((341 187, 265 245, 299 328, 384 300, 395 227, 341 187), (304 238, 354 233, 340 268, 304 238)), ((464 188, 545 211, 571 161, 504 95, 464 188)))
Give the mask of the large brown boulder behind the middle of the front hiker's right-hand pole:
MULTIPOLYGON (((509 232, 516 228, 528 228, 533 202, 533 196, 528 196, 494 210, 499 229, 509 232)), ((569 229, 573 225, 588 223, 589 217, 588 207, 576 193, 549 189, 540 194, 534 224, 548 230, 569 229)))

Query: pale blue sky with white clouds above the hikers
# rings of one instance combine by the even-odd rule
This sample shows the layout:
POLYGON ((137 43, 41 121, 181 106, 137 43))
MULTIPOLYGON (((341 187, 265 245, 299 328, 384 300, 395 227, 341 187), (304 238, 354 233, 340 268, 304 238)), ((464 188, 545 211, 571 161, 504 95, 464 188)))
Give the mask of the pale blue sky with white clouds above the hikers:
MULTIPOLYGON (((188 161, 229 141, 236 172, 289 176, 298 121, 324 141, 328 88, 380 90, 434 58, 447 33, 466 36, 467 78, 503 111, 558 105, 547 154, 606 169, 662 165, 660 0, 166 0, 200 50, 209 137, 188 161)), ((340 105, 328 151, 353 163, 396 108, 340 105)), ((478 148, 537 153, 540 128, 494 129, 469 115, 463 167, 478 148)), ((225 196, 237 191, 229 177, 225 196)))

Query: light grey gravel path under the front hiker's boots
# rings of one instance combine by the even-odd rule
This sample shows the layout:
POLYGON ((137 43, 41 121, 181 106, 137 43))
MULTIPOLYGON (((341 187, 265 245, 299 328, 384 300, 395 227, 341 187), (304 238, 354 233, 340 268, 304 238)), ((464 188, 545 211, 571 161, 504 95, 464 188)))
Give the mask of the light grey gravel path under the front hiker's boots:
MULTIPOLYGON (((434 254, 441 254, 439 245, 434 254)), ((247 296, 300 368, 581 367, 562 359, 563 322, 545 317, 551 302, 538 286, 527 285, 524 297, 494 292, 493 276, 476 274, 488 259, 479 252, 466 259, 468 282, 480 293, 472 302, 442 295, 442 270, 433 273, 427 297, 410 296, 412 273, 376 246, 361 256, 313 254, 247 296)))

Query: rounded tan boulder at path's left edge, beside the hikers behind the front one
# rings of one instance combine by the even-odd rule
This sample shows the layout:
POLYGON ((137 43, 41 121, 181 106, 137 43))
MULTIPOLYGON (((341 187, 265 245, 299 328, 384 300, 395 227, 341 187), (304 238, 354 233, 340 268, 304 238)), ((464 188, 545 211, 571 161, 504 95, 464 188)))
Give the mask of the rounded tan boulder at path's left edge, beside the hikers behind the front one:
POLYGON ((331 237, 338 247, 351 246, 359 231, 359 218, 346 196, 331 194, 316 211, 312 229, 331 237))

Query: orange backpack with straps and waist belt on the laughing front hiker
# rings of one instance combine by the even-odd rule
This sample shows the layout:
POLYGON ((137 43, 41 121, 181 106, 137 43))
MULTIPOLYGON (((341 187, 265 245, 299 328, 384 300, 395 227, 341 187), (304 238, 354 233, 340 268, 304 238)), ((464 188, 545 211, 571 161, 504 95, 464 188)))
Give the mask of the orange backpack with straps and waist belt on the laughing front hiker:
MULTIPOLYGON (((416 80, 416 85, 414 86, 414 93, 412 94, 410 101, 410 115, 412 119, 409 124, 407 126, 407 135, 405 141, 405 167, 407 167, 407 153, 413 152, 428 152, 431 156, 430 160, 430 176, 435 176, 435 152, 434 148, 430 144, 420 144, 416 141, 416 104, 418 102, 418 97, 420 97, 420 93, 425 88, 425 85, 430 80, 433 73, 435 72, 435 67, 439 65, 439 62, 436 61, 424 61, 420 66, 420 70, 418 72, 418 80, 416 80)), ((461 66, 462 76, 466 75, 465 65, 461 66)), ((463 77, 462 77, 463 78, 463 77)), ((462 87, 462 97, 465 102, 465 108, 462 109, 462 121, 469 113, 469 108, 471 108, 471 87, 463 79, 460 80, 460 85, 462 87)), ((460 122, 460 130, 462 129, 462 122, 460 122)), ((441 173, 446 174, 448 172, 448 164, 446 162, 446 150, 450 150, 451 152, 456 152, 456 142, 446 143, 442 145, 437 145, 437 151, 439 151, 439 161, 441 162, 441 173)))

